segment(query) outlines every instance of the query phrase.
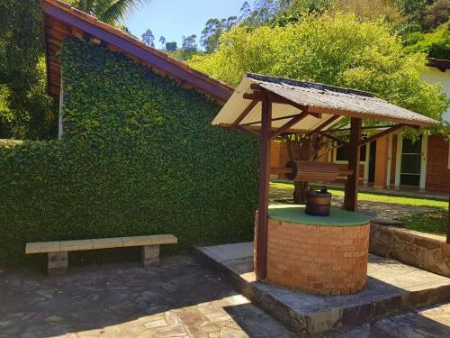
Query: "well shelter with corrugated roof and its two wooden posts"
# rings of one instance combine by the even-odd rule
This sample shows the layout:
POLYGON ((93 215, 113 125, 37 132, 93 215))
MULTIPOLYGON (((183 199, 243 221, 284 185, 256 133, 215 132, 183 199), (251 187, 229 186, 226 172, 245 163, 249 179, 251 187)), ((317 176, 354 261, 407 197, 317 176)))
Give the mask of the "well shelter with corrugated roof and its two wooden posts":
POLYGON ((318 133, 349 154, 344 208, 355 212, 359 178, 360 147, 405 126, 427 127, 436 120, 392 105, 373 94, 344 87, 247 73, 220 113, 212 121, 229 130, 240 130, 259 140, 259 203, 255 233, 255 273, 267 276, 268 191, 271 140, 286 133, 318 133), (350 118, 350 137, 343 140, 327 132, 342 118, 350 118), (362 139, 370 128, 363 120, 389 123, 371 137, 362 139))

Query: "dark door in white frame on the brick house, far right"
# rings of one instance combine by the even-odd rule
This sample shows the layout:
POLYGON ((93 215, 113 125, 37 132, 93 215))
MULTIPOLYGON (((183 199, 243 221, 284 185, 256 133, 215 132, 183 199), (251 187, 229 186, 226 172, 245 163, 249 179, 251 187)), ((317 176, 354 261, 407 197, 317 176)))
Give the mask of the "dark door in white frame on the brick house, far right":
POLYGON ((402 186, 419 187, 422 139, 419 138, 414 142, 403 137, 401 148, 400 184, 402 186))

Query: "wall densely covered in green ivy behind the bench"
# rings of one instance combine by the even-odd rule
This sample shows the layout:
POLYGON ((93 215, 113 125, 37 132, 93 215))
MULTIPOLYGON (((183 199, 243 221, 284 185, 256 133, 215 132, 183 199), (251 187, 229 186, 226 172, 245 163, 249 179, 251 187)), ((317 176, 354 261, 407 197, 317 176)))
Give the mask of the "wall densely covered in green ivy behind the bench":
POLYGON ((0 265, 30 263, 35 241, 252 238, 257 142, 212 126, 220 105, 75 38, 61 65, 63 140, 0 142, 0 265))

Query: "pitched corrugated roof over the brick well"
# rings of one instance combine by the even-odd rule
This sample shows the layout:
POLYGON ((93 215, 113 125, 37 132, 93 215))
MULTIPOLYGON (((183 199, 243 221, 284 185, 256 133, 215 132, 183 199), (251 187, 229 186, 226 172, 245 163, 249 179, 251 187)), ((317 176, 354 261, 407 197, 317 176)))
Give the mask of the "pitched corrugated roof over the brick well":
POLYGON ((326 125, 328 128, 343 116, 414 126, 437 123, 427 116, 374 97, 372 93, 252 73, 244 75, 212 123, 223 127, 236 125, 239 116, 247 109, 249 112, 239 123, 250 129, 260 128, 261 100, 257 95, 262 92, 269 92, 275 97, 272 108, 273 129, 282 127, 288 116, 290 118, 304 109, 307 109, 309 115, 294 123, 290 131, 314 131, 320 125, 326 125), (252 101, 256 104, 252 105, 252 101))

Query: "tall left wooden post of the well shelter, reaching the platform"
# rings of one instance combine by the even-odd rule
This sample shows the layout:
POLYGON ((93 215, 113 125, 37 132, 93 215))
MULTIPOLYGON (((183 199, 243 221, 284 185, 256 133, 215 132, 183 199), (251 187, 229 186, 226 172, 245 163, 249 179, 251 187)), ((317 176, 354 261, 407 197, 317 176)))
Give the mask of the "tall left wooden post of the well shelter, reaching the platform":
POLYGON ((261 134, 259 139, 259 205, 257 224, 257 257, 255 273, 257 279, 266 279, 267 266, 267 221, 270 178, 270 134, 272 132, 272 102, 270 96, 262 101, 261 134))

